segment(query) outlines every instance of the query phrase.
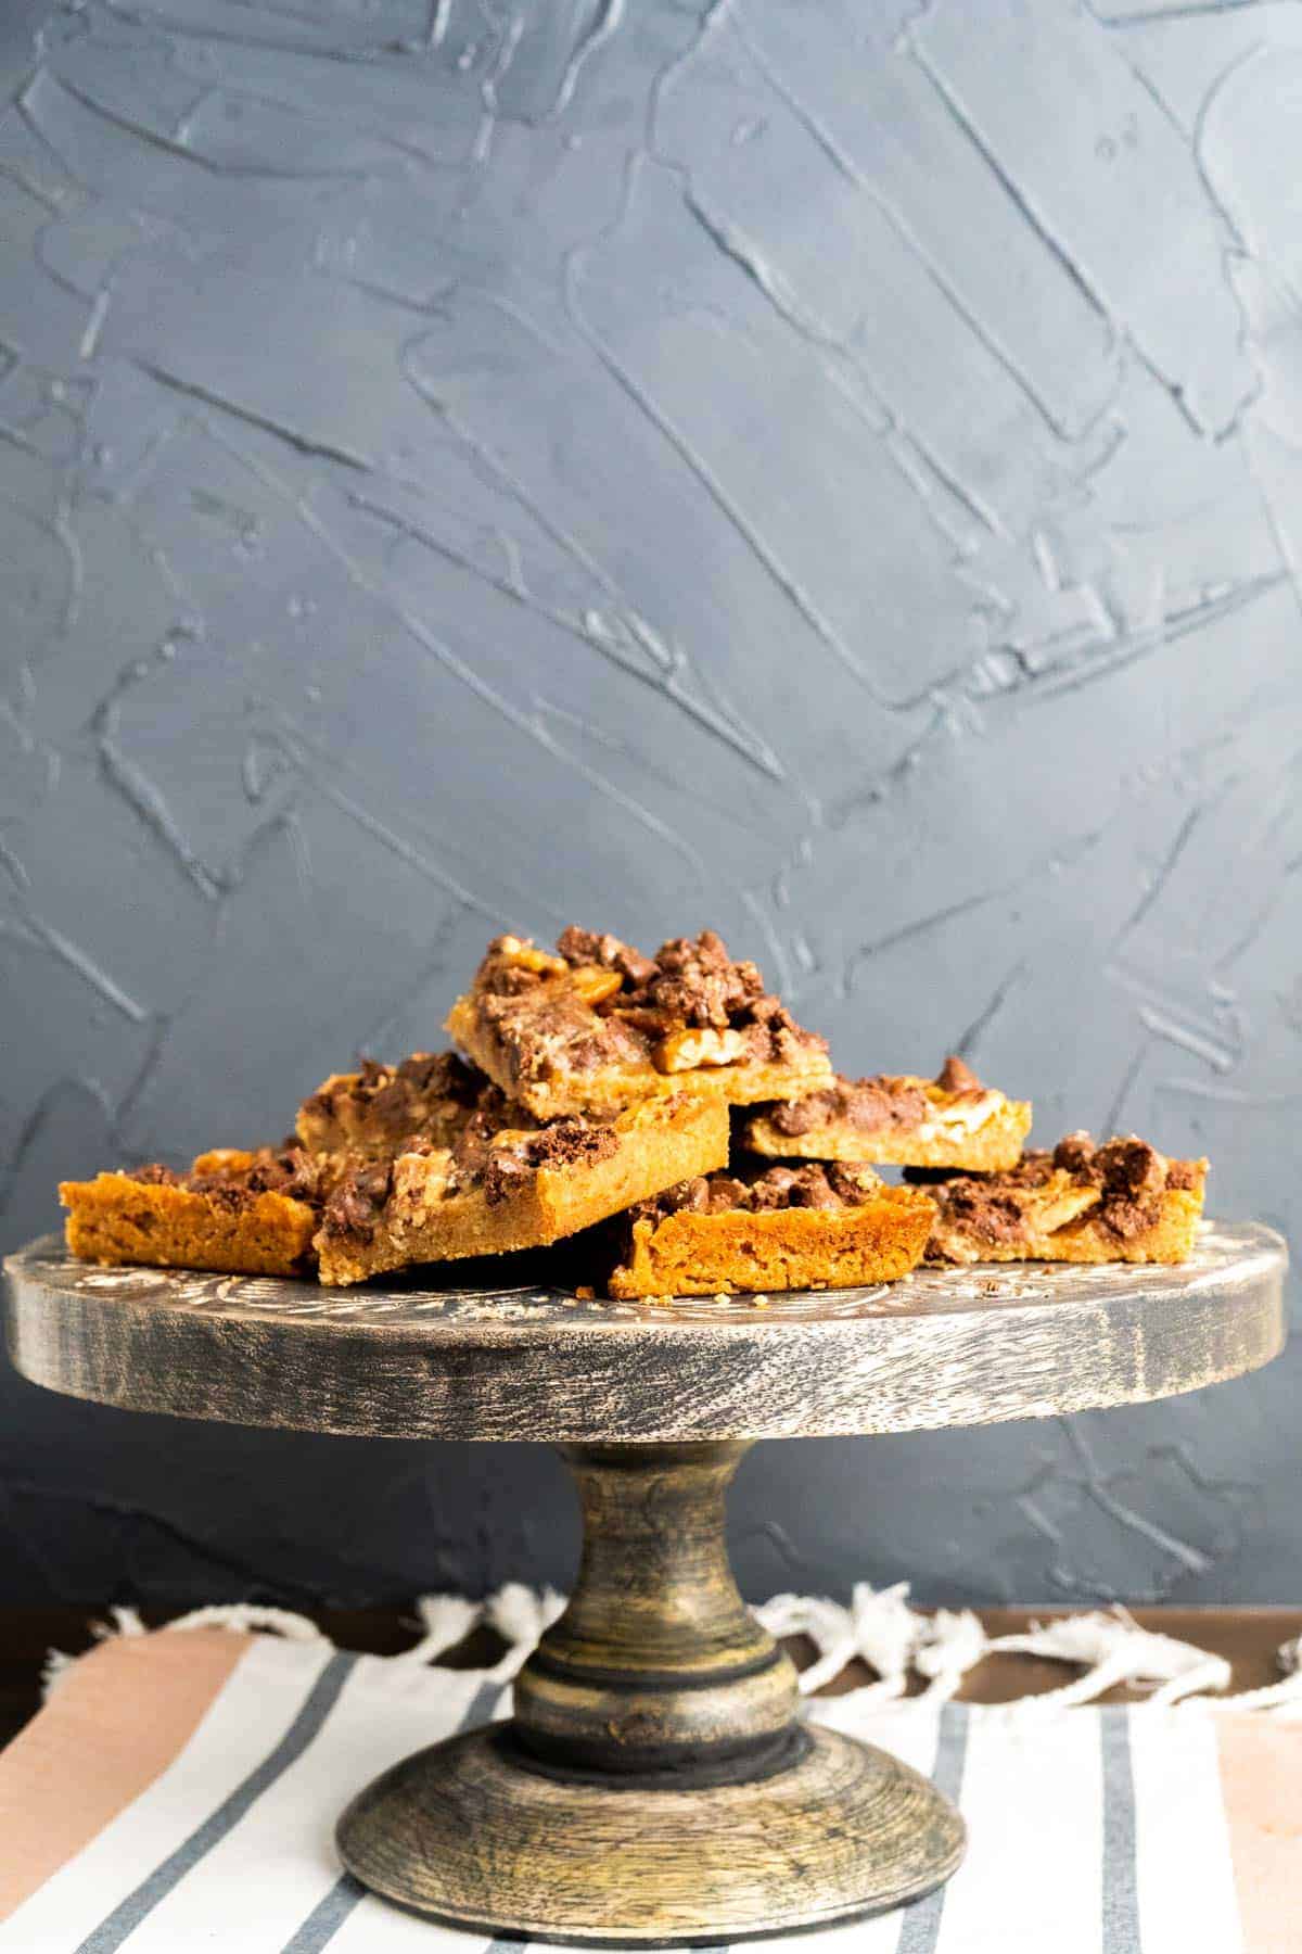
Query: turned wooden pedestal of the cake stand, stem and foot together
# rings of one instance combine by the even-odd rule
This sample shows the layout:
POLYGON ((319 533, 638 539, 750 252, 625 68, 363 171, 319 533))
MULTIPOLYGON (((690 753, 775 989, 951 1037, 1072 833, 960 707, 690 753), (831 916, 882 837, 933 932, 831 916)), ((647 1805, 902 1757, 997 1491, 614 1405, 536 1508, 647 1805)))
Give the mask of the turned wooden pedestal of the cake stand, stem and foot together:
POLYGON ((826 1927, 949 1878, 958 1813, 884 1751, 808 1727, 736 1591, 724 1491, 744 1452, 562 1448, 584 1559, 513 1720, 363 1790, 338 1829, 349 1872, 461 1927, 597 1946, 826 1927))

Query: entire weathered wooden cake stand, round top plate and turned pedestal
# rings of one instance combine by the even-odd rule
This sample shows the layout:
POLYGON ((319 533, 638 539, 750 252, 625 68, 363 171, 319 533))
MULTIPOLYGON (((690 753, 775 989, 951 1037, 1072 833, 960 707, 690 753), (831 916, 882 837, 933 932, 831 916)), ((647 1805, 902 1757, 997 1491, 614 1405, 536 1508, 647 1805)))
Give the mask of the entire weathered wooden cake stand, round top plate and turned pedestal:
POLYGON ((800 1721, 794 1669, 728 1569, 724 1493, 746 1448, 1234 1378, 1282 1346, 1284 1262, 1271 1229, 1226 1227, 1183 1268, 919 1272, 642 1307, 105 1270, 47 1237, 6 1264, 8 1338, 23 1376, 107 1405, 558 1444, 584 1557, 513 1720, 387 1770, 344 1811, 340 1852, 441 1921, 666 1946, 896 1907, 949 1878, 964 1845, 925 1778, 800 1721))

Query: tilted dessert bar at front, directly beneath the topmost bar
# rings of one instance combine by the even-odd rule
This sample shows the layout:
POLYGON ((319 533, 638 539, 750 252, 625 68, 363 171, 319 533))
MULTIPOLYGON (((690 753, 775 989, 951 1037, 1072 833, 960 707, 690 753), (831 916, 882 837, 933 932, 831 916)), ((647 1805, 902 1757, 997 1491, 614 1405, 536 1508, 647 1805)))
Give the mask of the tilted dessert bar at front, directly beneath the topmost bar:
POLYGON ((465 1178, 455 1155, 441 1149, 398 1155, 385 1184, 371 1182, 379 1200, 353 1204, 346 1182, 316 1237, 320 1280, 349 1284, 412 1262, 545 1247, 728 1159, 728 1108, 693 1092, 625 1108, 590 1131, 590 1145, 588 1122, 558 1126, 574 1157, 554 1165, 529 1165, 547 1127, 506 1129, 490 1137, 484 1161, 465 1178))

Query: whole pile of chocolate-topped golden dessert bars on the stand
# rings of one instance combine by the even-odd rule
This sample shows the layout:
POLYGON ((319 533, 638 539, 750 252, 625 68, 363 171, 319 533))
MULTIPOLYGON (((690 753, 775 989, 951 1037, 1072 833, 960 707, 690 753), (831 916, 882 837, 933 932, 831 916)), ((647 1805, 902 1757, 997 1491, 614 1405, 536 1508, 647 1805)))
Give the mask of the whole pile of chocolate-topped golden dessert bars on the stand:
POLYGON ((712 930, 654 957, 498 936, 447 1032, 326 1079, 279 1147, 64 1182, 70 1251, 351 1284, 564 1243, 591 1294, 763 1296, 923 1258, 1179 1262, 1202 1210, 1206 1161, 1142 1139, 1023 1151, 1031 1106, 962 1059, 834 1075, 712 930))

